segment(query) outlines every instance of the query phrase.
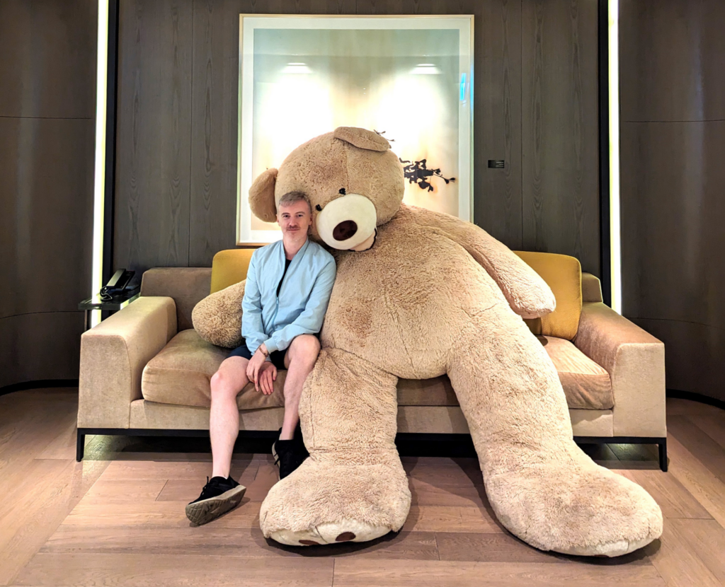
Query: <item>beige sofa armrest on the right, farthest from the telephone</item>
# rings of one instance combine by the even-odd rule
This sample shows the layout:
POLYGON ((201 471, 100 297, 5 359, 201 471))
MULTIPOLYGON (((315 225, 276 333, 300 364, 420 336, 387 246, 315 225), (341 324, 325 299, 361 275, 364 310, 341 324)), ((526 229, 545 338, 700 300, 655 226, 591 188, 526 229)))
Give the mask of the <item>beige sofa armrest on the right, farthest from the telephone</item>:
POLYGON ((667 434, 665 345, 603 303, 584 303, 574 345, 605 368, 615 436, 667 434))

